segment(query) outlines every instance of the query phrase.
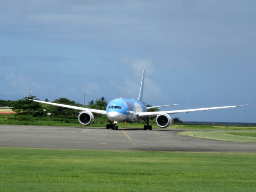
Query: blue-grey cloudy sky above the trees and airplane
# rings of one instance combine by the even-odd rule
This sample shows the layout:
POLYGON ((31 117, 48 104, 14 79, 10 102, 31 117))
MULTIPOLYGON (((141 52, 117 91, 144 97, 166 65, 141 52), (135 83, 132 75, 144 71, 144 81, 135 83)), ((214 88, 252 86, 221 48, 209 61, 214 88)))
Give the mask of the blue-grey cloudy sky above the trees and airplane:
POLYGON ((256 122, 254 0, 0 0, 0 99, 249 104, 171 115, 256 122))

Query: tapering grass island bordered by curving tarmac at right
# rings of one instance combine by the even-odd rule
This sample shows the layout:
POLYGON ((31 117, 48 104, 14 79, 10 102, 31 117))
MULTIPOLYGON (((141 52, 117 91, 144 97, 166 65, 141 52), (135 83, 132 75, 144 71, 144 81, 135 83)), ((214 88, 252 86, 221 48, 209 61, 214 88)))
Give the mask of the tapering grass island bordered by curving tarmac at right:
POLYGON ((184 136, 221 141, 256 143, 256 132, 185 131, 180 132, 179 134, 184 136))

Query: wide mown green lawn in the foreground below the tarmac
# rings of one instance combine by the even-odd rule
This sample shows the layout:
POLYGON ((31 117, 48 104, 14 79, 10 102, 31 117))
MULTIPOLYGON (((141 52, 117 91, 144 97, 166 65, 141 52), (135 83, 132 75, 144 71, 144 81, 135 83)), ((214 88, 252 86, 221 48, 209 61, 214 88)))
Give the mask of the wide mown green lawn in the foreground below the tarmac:
POLYGON ((0 148, 0 191, 256 191, 256 154, 0 148))

